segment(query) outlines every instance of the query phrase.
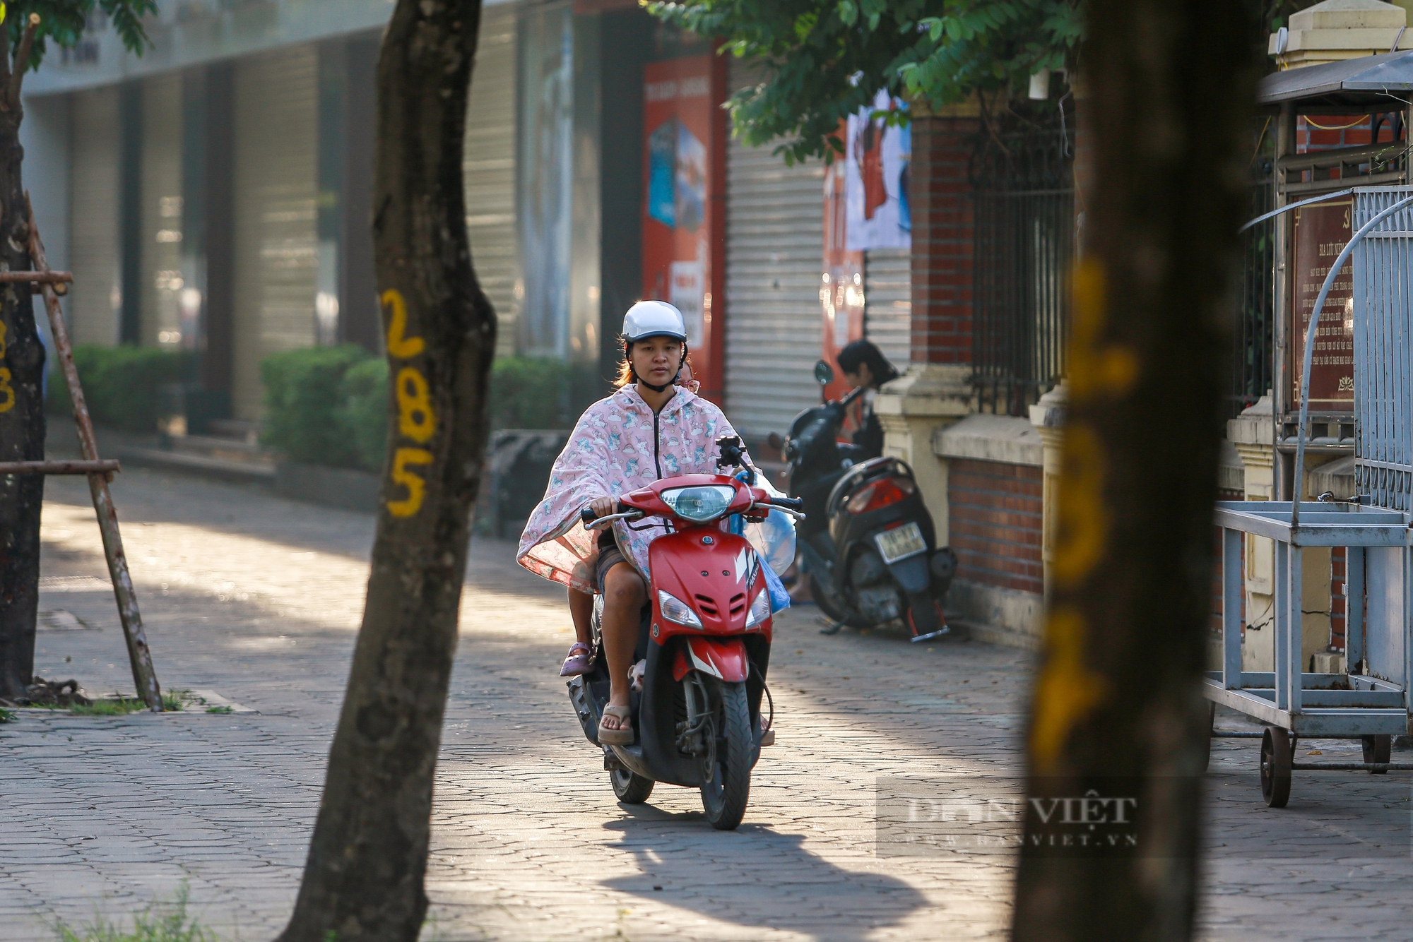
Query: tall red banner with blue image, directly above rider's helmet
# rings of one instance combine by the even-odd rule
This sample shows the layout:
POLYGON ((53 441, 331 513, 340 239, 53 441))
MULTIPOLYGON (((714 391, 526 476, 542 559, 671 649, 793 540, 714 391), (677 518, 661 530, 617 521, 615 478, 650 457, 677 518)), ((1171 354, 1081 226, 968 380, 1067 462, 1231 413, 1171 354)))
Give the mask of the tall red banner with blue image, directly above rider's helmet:
POLYGON ((643 69, 643 297, 687 321, 694 376, 721 401, 725 151, 719 56, 643 69), (719 75, 718 75, 719 73, 719 75), (714 311, 716 308, 716 311, 714 311))

